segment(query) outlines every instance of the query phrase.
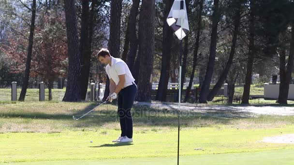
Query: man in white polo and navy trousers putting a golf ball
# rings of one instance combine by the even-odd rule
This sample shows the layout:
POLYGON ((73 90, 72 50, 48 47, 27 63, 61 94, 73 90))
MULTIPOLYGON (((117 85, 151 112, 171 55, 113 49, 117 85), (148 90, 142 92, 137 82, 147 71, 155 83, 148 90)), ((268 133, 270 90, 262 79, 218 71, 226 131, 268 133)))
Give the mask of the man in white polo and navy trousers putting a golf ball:
POLYGON ((101 49, 97 58, 103 64, 106 64, 106 73, 109 77, 109 96, 108 101, 118 97, 118 115, 120 122, 121 135, 112 142, 123 143, 132 142, 132 105, 137 93, 135 79, 127 64, 109 54, 107 49, 101 49))

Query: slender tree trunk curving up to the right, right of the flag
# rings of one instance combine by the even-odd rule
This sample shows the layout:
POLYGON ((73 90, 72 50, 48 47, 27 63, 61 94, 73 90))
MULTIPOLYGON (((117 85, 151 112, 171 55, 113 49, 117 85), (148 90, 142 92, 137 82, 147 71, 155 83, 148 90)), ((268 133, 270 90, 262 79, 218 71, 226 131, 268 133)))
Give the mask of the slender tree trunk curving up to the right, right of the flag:
MULTIPOLYGON (((225 81, 225 79, 227 78, 227 75, 230 71, 230 68, 232 66, 233 63, 233 59, 234 59, 234 55, 235 55, 235 48, 236 48, 236 42, 237 42, 237 36, 239 33, 239 26, 240 26, 240 18, 241 18, 241 2, 237 0, 236 6, 235 6, 235 19, 234 19, 234 32, 233 32, 233 39, 232 39, 232 45, 231 45, 231 51, 230 51, 230 55, 229 55, 229 59, 228 62, 225 66, 225 69, 222 71, 221 73, 221 77, 218 80, 218 82, 214 85, 214 87, 212 88, 212 90, 209 92, 208 96, 207 96, 207 100, 211 101, 214 96, 218 93, 218 91, 221 89, 221 86, 223 84, 223 82, 225 81)), ((234 84, 235 86, 235 84, 234 84)))

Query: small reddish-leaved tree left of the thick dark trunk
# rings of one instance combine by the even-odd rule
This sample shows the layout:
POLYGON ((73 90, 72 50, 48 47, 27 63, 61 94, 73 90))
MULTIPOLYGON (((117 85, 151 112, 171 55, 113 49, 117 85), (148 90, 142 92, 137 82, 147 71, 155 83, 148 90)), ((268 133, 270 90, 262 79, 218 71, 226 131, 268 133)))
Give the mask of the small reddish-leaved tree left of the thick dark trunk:
POLYGON ((64 17, 60 17, 60 12, 46 12, 42 23, 35 30, 38 40, 34 46, 31 77, 41 77, 47 84, 48 100, 52 100, 53 82, 59 77, 65 77, 65 64, 68 61, 66 34, 62 30, 64 17))

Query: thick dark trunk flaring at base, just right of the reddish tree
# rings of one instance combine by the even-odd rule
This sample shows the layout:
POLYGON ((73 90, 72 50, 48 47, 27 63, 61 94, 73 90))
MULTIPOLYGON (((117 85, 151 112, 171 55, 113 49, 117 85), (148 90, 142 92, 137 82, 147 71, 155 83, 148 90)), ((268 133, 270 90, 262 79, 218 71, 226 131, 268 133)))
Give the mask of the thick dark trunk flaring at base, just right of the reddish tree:
POLYGON ((77 34, 75 0, 64 0, 67 48, 69 54, 68 79, 62 101, 81 101, 81 55, 77 34))

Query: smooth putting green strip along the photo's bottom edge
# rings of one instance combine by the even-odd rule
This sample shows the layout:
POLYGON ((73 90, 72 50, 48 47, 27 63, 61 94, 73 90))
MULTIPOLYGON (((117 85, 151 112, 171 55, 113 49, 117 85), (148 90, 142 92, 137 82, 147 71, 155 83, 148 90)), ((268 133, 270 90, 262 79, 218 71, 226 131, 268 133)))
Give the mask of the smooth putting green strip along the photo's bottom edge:
MULTIPOLYGON (((0 165, 176 165, 176 157, 8 163, 0 165)), ((293 165, 293 150, 181 156, 180 165, 293 165)))

